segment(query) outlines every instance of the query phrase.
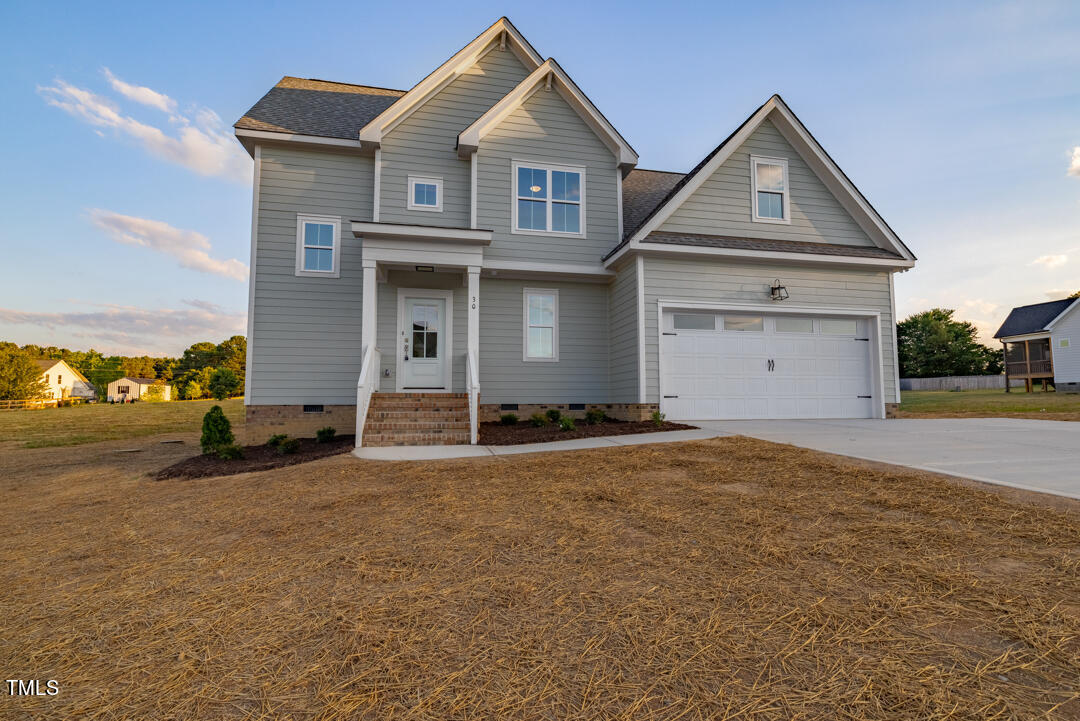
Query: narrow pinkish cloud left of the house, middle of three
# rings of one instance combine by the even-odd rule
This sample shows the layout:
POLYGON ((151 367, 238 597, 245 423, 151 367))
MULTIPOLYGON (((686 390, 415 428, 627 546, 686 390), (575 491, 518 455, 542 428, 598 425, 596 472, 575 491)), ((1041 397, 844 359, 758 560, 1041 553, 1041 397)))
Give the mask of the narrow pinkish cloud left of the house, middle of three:
POLYGON ((247 266, 237 259, 211 258, 210 240, 193 230, 173 228, 161 220, 136 218, 111 210, 94 208, 90 212, 94 225, 127 245, 139 245, 176 258, 183 268, 203 273, 224 275, 234 281, 247 280, 247 266))

